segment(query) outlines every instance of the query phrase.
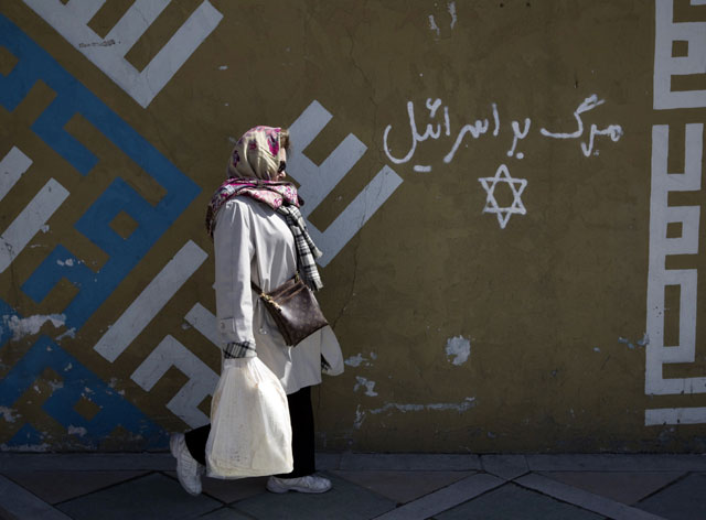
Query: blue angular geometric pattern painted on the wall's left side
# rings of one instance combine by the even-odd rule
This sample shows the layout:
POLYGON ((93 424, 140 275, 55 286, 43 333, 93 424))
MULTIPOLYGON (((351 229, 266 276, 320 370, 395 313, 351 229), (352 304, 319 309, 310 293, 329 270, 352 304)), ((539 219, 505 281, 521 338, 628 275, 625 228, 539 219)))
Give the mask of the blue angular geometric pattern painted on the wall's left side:
MULTIPOLYGON (((76 334, 201 189, 3 15, 0 15, 0 45, 15 59, 11 72, 7 76, 0 76, 0 106, 12 112, 36 84, 47 86, 54 93, 54 99, 36 117, 31 130, 61 160, 71 164, 76 175, 92 175, 98 161, 89 149, 65 129, 73 118, 81 116, 163 191, 160 201, 152 204, 117 176, 103 193, 97 194, 73 225, 78 234, 105 252, 105 263, 99 268, 89 267, 68 247, 58 243, 22 283, 22 292, 40 303, 60 281, 69 282, 75 295, 64 308, 56 312, 61 313, 66 328, 76 334), (111 227, 114 219, 122 214, 135 224, 133 231, 127 237, 120 236, 111 227)), ((8 186, 6 192, 10 188, 8 186)), ((56 202, 57 192, 61 195, 60 205, 73 202, 71 194, 54 182, 40 189, 40 199, 35 206, 42 207, 42 203, 47 201, 56 202)), ((32 208, 32 203, 28 207, 32 208)), ((36 212, 29 210, 18 216, 14 228, 11 225, 6 230, 3 241, 13 248, 6 247, 8 252, 3 252, 1 257, 3 270, 21 252, 22 247, 26 246, 31 236, 40 230, 49 216, 43 215, 38 221, 36 212), (23 229, 25 236, 13 232, 13 229, 23 229)), ((11 336, 12 316, 17 313, 4 303, 1 311, 2 344, 6 344, 11 336)), ((165 433, 159 426, 88 371, 79 360, 46 337, 41 337, 3 378, 0 383, 0 404, 11 409, 21 393, 30 389, 46 369, 56 372, 62 387, 54 390, 42 409, 65 427, 85 432, 78 438, 87 446, 107 437, 118 425, 135 436, 142 436, 146 447, 164 444, 165 433), (89 419, 78 414, 73 407, 82 399, 92 401, 100 411, 89 419)), ((13 419, 13 422, 7 423, 10 431, 14 432, 11 438, 3 440, 7 445, 41 444, 36 429, 29 423, 20 424, 17 418, 13 419), (21 427, 18 430, 18 426, 21 427)))

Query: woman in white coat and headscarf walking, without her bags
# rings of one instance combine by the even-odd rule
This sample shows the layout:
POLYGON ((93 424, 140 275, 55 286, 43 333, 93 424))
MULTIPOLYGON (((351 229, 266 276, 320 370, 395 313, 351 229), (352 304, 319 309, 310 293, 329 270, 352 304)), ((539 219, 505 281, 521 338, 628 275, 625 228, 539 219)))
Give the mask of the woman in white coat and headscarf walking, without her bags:
MULTIPOLYGON (((314 259, 321 256, 299 213, 303 202, 286 182, 289 133, 255 127, 236 143, 228 180, 212 197, 206 228, 214 240, 218 333, 224 367, 229 360, 257 356, 279 378, 289 404, 293 470, 269 477, 267 489, 324 492, 331 481, 314 475, 311 387, 321 372, 339 375, 343 357, 333 331, 325 326, 288 347, 252 283, 270 292, 297 272, 314 291, 322 288, 314 259)), ((231 361, 233 362, 233 361, 231 361)), ((211 425, 173 434, 179 481, 191 495, 201 492, 205 446, 211 425)))

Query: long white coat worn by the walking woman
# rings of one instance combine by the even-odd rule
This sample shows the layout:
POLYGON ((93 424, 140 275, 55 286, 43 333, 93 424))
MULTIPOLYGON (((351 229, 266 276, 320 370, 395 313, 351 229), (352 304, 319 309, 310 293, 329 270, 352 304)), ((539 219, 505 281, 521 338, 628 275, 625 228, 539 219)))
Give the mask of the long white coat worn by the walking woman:
POLYGON ((270 292, 297 272, 295 239, 285 218, 250 197, 236 196, 218 210, 213 234, 216 262, 216 314, 222 348, 254 342, 257 356, 279 378, 287 394, 343 372, 341 347, 331 327, 315 332, 296 347, 285 345, 250 280, 270 292))

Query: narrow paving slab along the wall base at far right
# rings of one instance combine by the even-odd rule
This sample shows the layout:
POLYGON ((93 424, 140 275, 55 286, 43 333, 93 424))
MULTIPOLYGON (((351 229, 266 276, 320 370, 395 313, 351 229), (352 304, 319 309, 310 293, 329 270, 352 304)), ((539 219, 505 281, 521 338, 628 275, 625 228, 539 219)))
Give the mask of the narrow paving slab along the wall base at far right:
POLYGON ((532 472, 704 472, 705 455, 526 455, 532 472))

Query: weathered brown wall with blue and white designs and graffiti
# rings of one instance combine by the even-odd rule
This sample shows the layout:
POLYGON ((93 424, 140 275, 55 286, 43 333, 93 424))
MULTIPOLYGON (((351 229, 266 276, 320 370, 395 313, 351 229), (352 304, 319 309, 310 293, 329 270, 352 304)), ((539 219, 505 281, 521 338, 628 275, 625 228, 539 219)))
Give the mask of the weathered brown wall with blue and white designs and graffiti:
POLYGON ((160 449, 220 369, 205 206, 290 126, 324 449, 706 438, 704 0, 0 7, 0 444, 160 449))

